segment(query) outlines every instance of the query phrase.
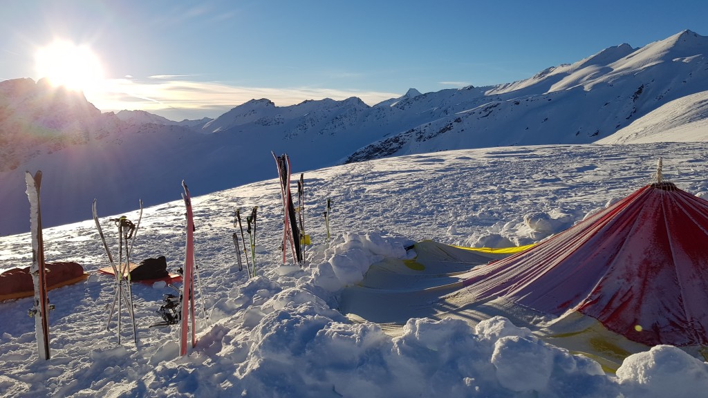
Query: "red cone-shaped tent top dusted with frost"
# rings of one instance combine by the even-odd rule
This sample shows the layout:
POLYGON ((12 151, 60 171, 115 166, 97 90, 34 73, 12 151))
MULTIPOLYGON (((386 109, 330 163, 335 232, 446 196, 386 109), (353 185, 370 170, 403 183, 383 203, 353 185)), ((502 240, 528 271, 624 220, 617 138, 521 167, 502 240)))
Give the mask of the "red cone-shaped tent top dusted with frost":
POLYGON ((707 345, 708 201, 658 181, 532 249, 473 268, 465 290, 546 314, 578 311, 639 343, 707 345))

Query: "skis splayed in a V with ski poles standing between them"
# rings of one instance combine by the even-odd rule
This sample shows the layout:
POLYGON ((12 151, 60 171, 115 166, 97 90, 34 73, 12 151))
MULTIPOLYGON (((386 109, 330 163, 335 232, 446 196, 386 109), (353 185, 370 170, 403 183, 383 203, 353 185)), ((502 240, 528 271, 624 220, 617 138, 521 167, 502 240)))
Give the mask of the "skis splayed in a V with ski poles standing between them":
POLYGON ((98 235, 103 241, 103 249, 105 249, 105 254, 108 256, 108 261, 110 262, 110 267, 113 269, 113 275, 115 275, 115 291, 113 294, 113 304, 110 306, 110 312, 108 313, 108 322, 106 322, 105 329, 110 330, 110 322, 113 320, 113 314, 115 313, 115 305, 118 304, 118 314, 116 319, 118 322, 118 344, 120 344, 120 313, 122 312, 122 305, 125 303, 125 307, 132 322, 133 329, 133 341, 137 344, 137 327, 135 325, 135 312, 132 300, 132 288, 130 286, 130 254, 132 254, 132 247, 135 244, 135 238, 137 237, 137 230, 140 227, 140 220, 142 220, 142 200, 139 200, 140 211, 138 215, 137 224, 133 224, 127 217, 122 216, 111 221, 115 222, 115 226, 118 227, 118 243, 120 244, 120 255, 118 257, 118 264, 115 263, 113 259, 113 254, 111 254, 110 248, 108 247, 108 242, 105 240, 105 235, 103 234, 103 229, 101 228, 101 222, 98 222, 98 211, 96 210, 96 199, 93 199, 93 222, 96 222, 96 229, 98 229, 98 235), (123 248, 125 247, 125 261, 123 261, 123 248))

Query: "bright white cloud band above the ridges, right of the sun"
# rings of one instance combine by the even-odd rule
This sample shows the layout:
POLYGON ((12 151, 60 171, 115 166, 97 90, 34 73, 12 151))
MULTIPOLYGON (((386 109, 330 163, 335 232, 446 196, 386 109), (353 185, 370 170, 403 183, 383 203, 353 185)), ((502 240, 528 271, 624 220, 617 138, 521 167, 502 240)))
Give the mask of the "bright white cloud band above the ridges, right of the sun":
POLYGON ((156 75, 148 81, 137 79, 112 79, 101 87, 86 92, 86 99, 97 108, 108 110, 200 110, 216 117, 224 111, 251 99, 268 98, 277 106, 289 106, 309 99, 332 98, 343 100, 353 96, 373 105, 399 93, 321 89, 312 87, 244 87, 230 86, 215 81, 190 81, 180 78, 186 75, 156 75))

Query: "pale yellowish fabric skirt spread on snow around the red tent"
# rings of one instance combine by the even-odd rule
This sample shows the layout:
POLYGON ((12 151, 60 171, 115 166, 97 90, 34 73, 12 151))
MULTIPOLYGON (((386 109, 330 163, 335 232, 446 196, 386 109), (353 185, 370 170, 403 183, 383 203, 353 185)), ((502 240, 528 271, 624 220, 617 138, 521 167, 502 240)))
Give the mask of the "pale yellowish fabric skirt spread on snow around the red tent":
POLYGON ((554 317, 503 297, 469 297, 463 285, 466 274, 510 256, 510 251, 473 251, 433 241, 418 242, 413 250, 417 255, 412 260, 384 258, 373 264, 360 284, 343 290, 341 311, 354 322, 375 322, 391 336, 401 334, 411 318, 463 319, 475 326, 499 315, 544 341, 597 360, 606 372, 617 370, 632 353, 649 349, 579 312, 554 317))

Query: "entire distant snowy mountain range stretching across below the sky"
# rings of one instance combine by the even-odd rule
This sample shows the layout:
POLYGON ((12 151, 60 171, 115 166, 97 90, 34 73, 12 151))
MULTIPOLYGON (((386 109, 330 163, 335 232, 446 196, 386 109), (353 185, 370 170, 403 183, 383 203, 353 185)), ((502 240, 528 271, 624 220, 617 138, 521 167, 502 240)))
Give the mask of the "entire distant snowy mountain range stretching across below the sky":
MULTIPOLYGON (((690 30, 641 48, 610 47, 530 79, 278 107, 253 99, 214 120, 141 110, 101 113, 45 81, 0 82, 0 234, 26 232, 25 170, 44 171, 45 226, 275 178, 273 150, 295 172, 380 157, 532 144, 708 140, 708 38, 690 30)), ((306 178, 316 178, 306 173, 306 178)))

